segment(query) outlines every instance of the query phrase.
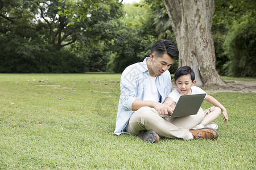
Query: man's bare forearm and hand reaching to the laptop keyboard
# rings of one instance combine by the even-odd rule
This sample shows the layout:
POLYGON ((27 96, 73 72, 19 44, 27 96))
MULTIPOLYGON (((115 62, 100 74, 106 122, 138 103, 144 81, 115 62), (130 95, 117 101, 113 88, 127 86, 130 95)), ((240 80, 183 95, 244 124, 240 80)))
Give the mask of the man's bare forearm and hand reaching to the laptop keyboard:
POLYGON ((170 107, 170 105, 162 104, 156 101, 143 101, 139 99, 135 99, 133 102, 133 105, 131 106, 133 111, 137 111, 141 107, 150 107, 154 108, 156 111, 158 111, 159 114, 167 115, 168 113, 172 113, 173 109, 170 107))

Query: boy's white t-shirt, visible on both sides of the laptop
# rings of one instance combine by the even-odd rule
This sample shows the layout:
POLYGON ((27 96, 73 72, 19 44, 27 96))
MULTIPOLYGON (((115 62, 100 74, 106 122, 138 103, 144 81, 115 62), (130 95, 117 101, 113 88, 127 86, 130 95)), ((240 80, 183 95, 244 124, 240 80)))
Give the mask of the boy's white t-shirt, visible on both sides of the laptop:
MULTIPOLYGON (((192 86, 191 87, 191 95, 195 95, 195 94, 207 94, 207 92, 205 92, 203 89, 201 89, 200 87, 196 87, 196 86, 192 86)), ((168 97, 171 97, 172 99, 174 99, 174 104, 177 104, 177 101, 180 99, 180 96, 182 96, 183 94, 180 94, 179 90, 177 90, 177 88, 174 88, 171 93, 168 95, 168 97)), ((207 97, 207 95, 205 95, 205 97, 207 97)), ((204 99, 205 99, 204 97, 204 99)))

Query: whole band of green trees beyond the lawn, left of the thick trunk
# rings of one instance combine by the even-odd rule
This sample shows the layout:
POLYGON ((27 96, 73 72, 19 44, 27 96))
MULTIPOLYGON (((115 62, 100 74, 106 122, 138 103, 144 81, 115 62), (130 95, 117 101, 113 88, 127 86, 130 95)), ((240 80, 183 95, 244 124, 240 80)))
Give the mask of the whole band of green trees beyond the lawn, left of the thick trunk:
POLYGON ((163 18, 160 24, 168 18, 163 3, 157 4, 158 10, 149 3, 121 5, 118 0, 3 1, 1 71, 121 72, 149 56, 159 35, 168 38, 170 25, 164 29, 158 25, 155 30, 156 14, 160 12, 159 17, 163 18), (71 61, 77 66, 68 67, 71 61))

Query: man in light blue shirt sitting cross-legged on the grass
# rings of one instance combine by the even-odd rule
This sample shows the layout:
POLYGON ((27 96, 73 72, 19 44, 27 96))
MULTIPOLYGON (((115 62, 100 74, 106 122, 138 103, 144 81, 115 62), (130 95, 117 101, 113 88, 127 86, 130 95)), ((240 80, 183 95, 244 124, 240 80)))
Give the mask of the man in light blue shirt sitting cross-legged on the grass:
POLYGON ((121 95, 115 134, 138 135, 149 143, 158 142, 159 136, 185 140, 218 137, 217 131, 211 129, 189 131, 183 128, 188 121, 196 120, 195 124, 200 124, 204 113, 199 112, 193 115, 193 118, 181 117, 172 121, 159 116, 173 112, 173 109, 163 102, 172 87, 168 69, 178 58, 179 50, 174 42, 160 40, 152 46, 150 57, 126 67, 120 81, 121 95))

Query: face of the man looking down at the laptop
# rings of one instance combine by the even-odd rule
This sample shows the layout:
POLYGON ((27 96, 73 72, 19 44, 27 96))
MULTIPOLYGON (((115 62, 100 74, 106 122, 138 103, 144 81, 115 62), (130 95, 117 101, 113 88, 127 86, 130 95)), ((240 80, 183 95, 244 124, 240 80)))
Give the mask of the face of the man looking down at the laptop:
POLYGON ((172 63, 174 62, 174 58, 168 56, 168 54, 163 54, 162 57, 156 57, 154 53, 150 55, 151 59, 151 70, 150 74, 154 73, 157 76, 160 76, 164 73, 164 71, 170 69, 172 63))

